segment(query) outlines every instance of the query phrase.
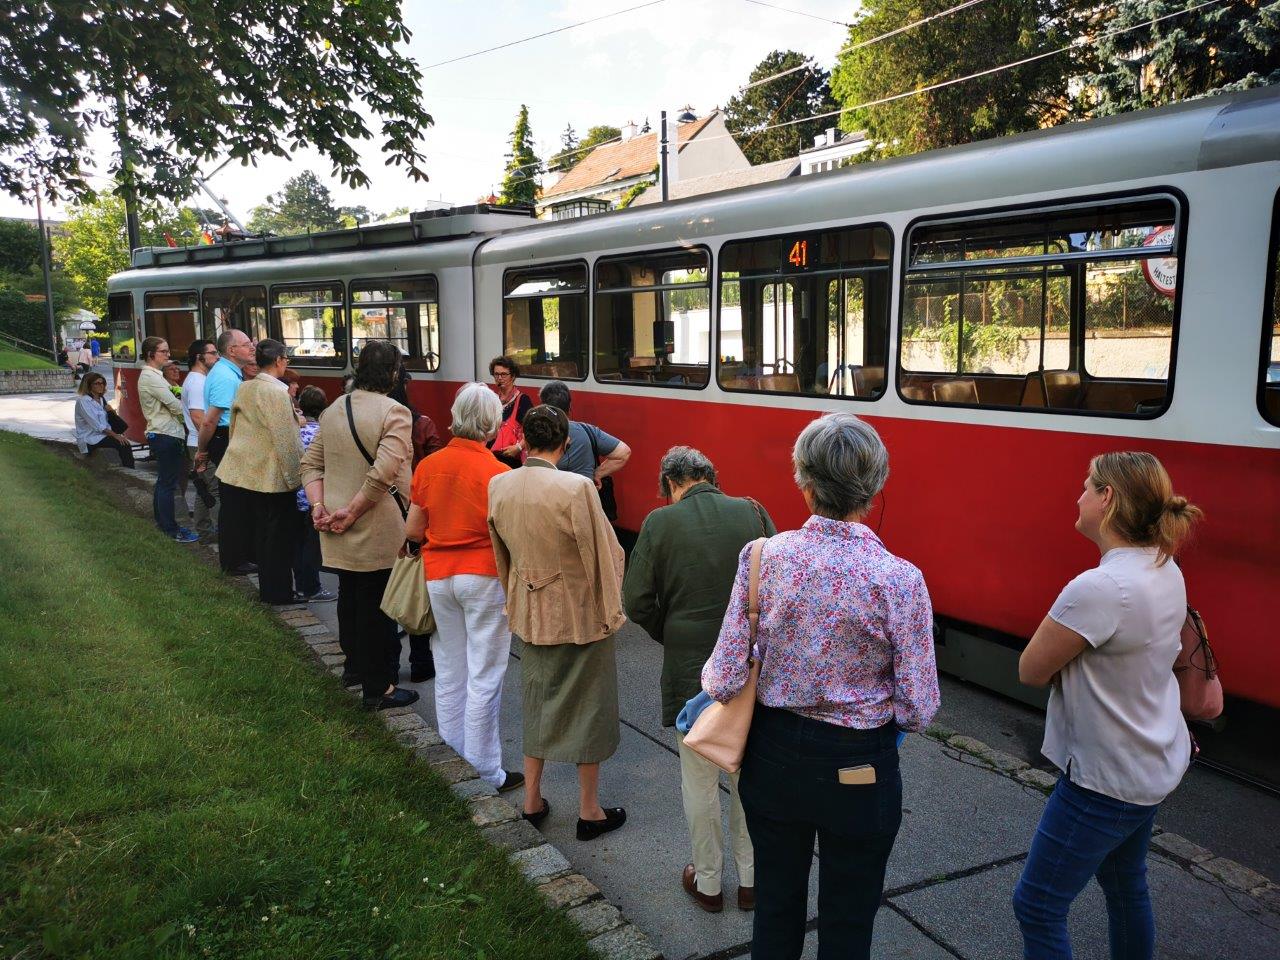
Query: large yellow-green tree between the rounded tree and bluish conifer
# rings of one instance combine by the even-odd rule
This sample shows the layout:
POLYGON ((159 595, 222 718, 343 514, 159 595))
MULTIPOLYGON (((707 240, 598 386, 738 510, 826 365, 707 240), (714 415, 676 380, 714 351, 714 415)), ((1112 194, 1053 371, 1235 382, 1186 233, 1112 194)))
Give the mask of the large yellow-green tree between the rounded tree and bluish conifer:
MULTIPOLYGON (((867 0, 846 47, 951 5, 951 0, 867 0)), ((1085 33, 1094 8, 1082 0, 988 0, 846 49, 832 74, 832 92, 849 109, 1059 50, 1085 33)), ((850 110, 841 127, 867 132, 872 147, 860 160, 1020 133, 1066 119, 1073 109, 1070 79, 1092 65, 1093 47, 1082 44, 1019 68, 850 110)))

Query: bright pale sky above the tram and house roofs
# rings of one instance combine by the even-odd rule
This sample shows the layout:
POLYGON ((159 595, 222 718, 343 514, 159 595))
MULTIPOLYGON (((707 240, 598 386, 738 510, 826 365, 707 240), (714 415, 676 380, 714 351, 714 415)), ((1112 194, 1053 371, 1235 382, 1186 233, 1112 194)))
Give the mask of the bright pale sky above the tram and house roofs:
MULTIPOLYGON (((559 148, 561 133, 570 123, 579 136, 600 123, 621 127, 648 118, 657 127, 659 110, 685 104, 701 116, 723 106, 771 50, 800 50, 829 69, 847 35, 829 20, 847 22, 858 6, 858 0, 768 0, 769 5, 664 0, 506 50, 431 67, 643 1, 404 0, 404 19, 413 33, 407 51, 422 69, 422 101, 435 119, 425 137, 429 183, 412 183, 397 168, 384 166, 376 142, 366 142, 358 148, 372 179, 369 189, 339 186, 330 178, 329 165, 311 151, 291 160, 264 159, 256 168, 229 165, 211 186, 242 220, 284 180, 306 169, 329 183, 339 204, 364 204, 375 212, 406 205, 416 209, 429 200, 472 204, 502 180, 507 138, 522 102, 529 105, 543 159, 559 148)), ((101 151, 105 169, 111 143, 104 138, 93 146, 101 151)), ((61 218, 65 210, 46 209, 46 215, 61 218)), ((0 195, 0 216, 35 216, 35 211, 0 195)))

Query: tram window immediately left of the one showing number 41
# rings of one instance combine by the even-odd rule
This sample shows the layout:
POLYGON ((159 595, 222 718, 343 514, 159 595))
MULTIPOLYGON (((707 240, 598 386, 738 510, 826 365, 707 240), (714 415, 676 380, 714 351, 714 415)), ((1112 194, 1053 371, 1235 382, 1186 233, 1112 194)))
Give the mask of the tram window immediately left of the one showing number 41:
POLYGON ((705 387, 710 372, 710 257, 704 250, 602 260, 595 270, 595 375, 654 387, 705 387))

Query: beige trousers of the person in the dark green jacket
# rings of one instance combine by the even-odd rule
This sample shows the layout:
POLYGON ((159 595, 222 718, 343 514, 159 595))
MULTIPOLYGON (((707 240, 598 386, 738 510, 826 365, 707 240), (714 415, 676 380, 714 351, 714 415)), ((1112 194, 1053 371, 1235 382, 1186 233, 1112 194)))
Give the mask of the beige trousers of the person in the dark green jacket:
MULTIPOLYGON (((694 869, 698 873, 698 892, 716 896, 721 892, 721 872, 724 869, 724 841, 719 805, 721 771, 687 746, 685 735, 676 731, 680 745, 680 794, 685 800, 685 823, 694 847, 694 869)), ((728 776, 728 842, 737 865, 737 882, 744 887, 755 886, 755 851, 746 832, 746 815, 737 796, 737 774, 728 776)))

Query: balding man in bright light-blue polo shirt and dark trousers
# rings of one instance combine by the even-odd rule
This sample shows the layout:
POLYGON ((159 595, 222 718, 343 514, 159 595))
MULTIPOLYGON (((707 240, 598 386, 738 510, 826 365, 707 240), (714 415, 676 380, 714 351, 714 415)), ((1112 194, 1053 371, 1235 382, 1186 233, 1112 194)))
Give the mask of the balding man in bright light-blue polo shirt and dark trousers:
MULTIPOLYGON (((196 470, 216 471, 227 452, 232 422, 232 403, 244 380, 243 369, 253 361, 253 340, 243 330, 223 330, 218 337, 219 360, 205 375, 205 420, 200 425, 196 470)), ((216 474, 215 474, 216 475, 216 474)), ((218 562, 223 572, 251 572, 253 564, 250 531, 243 526, 243 511, 237 509, 234 492, 220 486, 218 508, 218 562), (232 494, 228 499, 228 494, 232 494)))

